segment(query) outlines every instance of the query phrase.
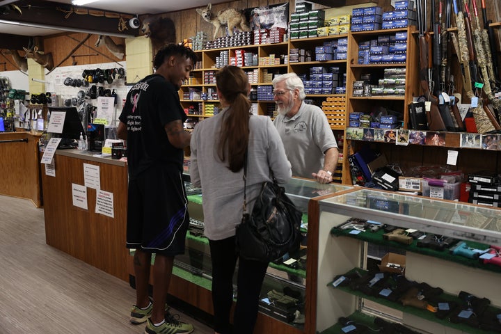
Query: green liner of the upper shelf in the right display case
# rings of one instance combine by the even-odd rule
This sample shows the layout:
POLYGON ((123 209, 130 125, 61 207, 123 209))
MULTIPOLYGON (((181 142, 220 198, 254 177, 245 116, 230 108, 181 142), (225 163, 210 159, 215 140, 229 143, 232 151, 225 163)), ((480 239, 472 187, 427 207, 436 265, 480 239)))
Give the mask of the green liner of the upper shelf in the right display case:
MULTIPOLYGON (((433 250, 431 248, 424 248, 424 247, 417 247, 417 240, 414 240, 412 244, 410 245, 404 245, 400 244, 397 241, 389 241, 383 239, 383 230, 379 230, 377 232, 370 232, 369 230, 365 232, 360 232, 358 234, 350 234, 350 230, 339 230, 337 228, 332 228, 331 229, 331 235, 334 236, 342 236, 342 237, 350 237, 353 239, 358 239, 361 241, 367 241, 370 242, 371 244, 377 244, 377 245, 383 245, 383 246, 391 246, 394 248, 399 248, 403 250, 407 250, 409 252, 417 253, 417 254, 422 254, 422 255, 429 255, 433 257, 438 257, 443 260, 447 260, 450 262, 456 262, 459 264, 463 264, 464 266, 467 267, 473 267, 473 268, 478 268, 486 271, 493 271, 495 273, 501 273, 501 267, 496 266, 495 264, 491 263, 486 263, 484 264, 480 260, 475 260, 475 259, 468 259, 467 257, 463 257, 460 255, 452 255, 449 253, 449 250, 433 250)), ((466 241, 468 246, 471 246, 473 248, 478 248, 478 249, 486 249, 489 248, 487 244, 481 244, 479 242, 474 242, 474 241, 466 241)))

